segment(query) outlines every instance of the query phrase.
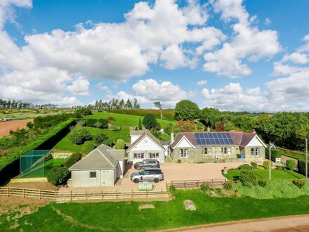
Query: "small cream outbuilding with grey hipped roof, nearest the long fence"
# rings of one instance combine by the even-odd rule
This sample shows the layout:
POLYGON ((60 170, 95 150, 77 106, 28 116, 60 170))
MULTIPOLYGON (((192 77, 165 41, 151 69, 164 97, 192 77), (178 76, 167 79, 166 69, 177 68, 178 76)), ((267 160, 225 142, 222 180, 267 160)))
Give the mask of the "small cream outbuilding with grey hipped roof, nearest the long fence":
POLYGON ((69 168, 70 187, 114 186, 124 175, 125 150, 98 146, 69 168))

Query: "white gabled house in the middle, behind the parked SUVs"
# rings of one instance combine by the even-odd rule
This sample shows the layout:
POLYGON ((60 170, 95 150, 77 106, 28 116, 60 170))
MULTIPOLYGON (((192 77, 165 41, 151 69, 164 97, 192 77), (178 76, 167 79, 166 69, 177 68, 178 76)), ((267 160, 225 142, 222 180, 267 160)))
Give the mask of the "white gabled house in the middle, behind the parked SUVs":
POLYGON ((130 131, 131 145, 126 150, 128 162, 136 162, 145 159, 157 159, 159 162, 165 161, 165 148, 161 141, 157 139, 147 129, 145 131, 130 131))

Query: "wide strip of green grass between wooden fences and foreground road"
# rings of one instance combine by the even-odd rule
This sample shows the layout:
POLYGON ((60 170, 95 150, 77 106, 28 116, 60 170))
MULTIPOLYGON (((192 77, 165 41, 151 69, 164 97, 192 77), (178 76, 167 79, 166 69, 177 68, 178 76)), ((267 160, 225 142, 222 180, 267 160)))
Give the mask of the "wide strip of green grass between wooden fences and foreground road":
POLYGON ((176 191, 169 202, 63 203, 39 207, 36 212, 16 217, 0 215, 0 231, 154 231, 223 221, 309 214, 309 197, 300 198, 211 198, 199 190, 176 191), (196 211, 185 210, 192 200, 196 211), (155 209, 138 210, 142 204, 155 209), (14 219, 13 219, 14 218, 14 219))

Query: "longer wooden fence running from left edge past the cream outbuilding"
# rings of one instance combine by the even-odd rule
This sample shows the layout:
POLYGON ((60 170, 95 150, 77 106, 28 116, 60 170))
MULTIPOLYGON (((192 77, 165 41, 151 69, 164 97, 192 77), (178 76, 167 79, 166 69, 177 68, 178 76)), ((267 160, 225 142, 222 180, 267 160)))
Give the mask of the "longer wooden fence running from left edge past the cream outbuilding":
POLYGON ((166 189, 153 191, 133 191, 131 190, 85 190, 85 191, 48 191, 32 188, 0 187, 0 195, 7 197, 19 196, 22 198, 51 199, 55 201, 73 200, 117 200, 136 198, 168 198, 169 191, 166 189))

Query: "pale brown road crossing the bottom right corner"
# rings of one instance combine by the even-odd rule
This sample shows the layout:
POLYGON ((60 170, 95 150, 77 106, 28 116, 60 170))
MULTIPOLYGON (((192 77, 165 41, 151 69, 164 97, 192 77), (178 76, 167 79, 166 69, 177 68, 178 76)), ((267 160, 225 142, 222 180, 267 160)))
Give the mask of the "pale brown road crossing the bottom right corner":
POLYGON ((177 228, 169 231, 188 232, 294 232, 309 231, 309 215, 275 217, 271 219, 255 219, 246 221, 233 221, 228 223, 193 226, 190 228, 177 228))

